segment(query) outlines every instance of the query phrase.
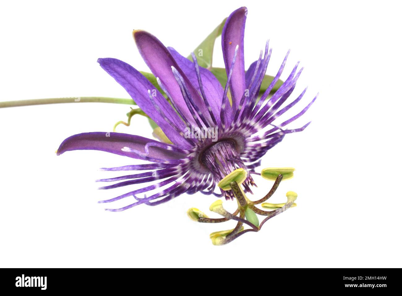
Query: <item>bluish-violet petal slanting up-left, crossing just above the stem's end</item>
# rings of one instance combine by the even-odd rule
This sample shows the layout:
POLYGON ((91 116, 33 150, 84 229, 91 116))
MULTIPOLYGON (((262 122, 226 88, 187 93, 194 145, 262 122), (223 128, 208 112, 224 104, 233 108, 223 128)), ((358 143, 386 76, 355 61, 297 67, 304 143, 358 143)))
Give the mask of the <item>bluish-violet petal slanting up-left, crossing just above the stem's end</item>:
POLYGON ((166 117, 168 117, 168 119, 170 119, 178 129, 185 129, 185 124, 180 117, 178 117, 174 109, 144 75, 135 70, 129 64, 117 59, 98 59, 98 63, 125 88, 135 103, 137 103, 137 105, 160 126, 172 143, 176 144, 179 148, 191 147, 191 145, 185 141, 185 139, 180 136, 180 134, 168 122, 166 122, 165 119, 163 119, 152 105, 148 96, 148 90, 153 91, 153 94, 156 96, 154 99, 160 108, 164 110, 166 117))

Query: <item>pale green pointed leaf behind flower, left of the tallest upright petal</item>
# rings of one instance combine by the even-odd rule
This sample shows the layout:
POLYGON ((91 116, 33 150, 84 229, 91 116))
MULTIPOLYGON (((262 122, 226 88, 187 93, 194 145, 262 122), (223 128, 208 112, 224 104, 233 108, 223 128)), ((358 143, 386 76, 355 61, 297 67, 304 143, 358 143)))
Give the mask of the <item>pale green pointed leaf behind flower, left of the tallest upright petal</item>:
MULTIPOLYGON (((197 56, 198 64, 201 67, 210 69, 212 67, 212 55, 213 55, 213 46, 215 45, 215 40, 222 34, 222 29, 224 28, 226 19, 222 21, 213 31, 211 34, 201 42, 194 49, 194 53, 197 56)), ((187 57, 189 60, 193 61, 191 55, 187 57)))

